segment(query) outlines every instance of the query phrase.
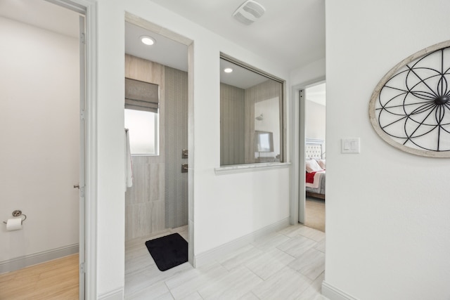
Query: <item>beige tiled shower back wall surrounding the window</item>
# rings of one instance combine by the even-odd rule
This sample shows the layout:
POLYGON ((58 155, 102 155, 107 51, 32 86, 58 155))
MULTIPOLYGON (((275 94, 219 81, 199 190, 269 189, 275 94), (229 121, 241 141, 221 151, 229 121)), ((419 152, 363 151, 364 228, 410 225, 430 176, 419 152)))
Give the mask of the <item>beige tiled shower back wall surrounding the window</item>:
POLYGON ((125 77, 160 86, 160 155, 133 156, 133 186, 125 193, 125 240, 165 229, 165 67, 125 56, 125 77))

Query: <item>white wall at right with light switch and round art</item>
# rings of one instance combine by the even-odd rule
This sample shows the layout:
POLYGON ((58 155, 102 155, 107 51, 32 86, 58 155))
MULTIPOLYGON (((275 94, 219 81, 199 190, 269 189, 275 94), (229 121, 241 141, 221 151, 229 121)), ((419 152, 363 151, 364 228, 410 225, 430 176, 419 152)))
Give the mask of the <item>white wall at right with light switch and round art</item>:
POLYGON ((325 280, 357 299, 450 299, 449 159, 401 152, 368 119, 390 68, 450 39, 449 11, 441 0, 326 1, 325 280), (361 154, 340 153, 347 137, 361 154))

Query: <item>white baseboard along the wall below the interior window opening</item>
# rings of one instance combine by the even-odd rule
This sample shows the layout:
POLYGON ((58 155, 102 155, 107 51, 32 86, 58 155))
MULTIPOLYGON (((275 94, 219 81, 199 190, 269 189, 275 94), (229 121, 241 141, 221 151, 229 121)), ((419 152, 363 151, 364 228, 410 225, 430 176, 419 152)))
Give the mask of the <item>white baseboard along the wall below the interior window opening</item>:
POLYGON ((236 240, 232 240, 231 242, 227 242, 226 244, 222 244, 219 247, 208 250, 207 252, 200 253, 194 256, 194 264, 195 268, 200 266, 204 266, 207 263, 211 263, 217 259, 220 259, 229 252, 232 252, 236 249, 244 247, 252 242, 254 242, 257 238, 262 237, 264 235, 269 235, 269 233, 274 233, 278 230, 286 228, 289 226, 289 218, 278 221, 274 224, 261 228, 259 230, 254 231, 253 233, 249 233, 248 235, 244 235, 243 237, 239 237, 236 240))

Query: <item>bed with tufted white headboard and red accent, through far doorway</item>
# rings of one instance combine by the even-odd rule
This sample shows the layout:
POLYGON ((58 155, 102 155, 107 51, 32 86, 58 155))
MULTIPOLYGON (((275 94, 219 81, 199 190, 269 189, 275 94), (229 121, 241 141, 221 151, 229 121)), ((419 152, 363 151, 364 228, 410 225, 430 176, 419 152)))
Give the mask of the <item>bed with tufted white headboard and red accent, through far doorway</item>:
POLYGON ((304 147, 307 196, 325 199, 326 159, 325 141, 307 138, 304 147))

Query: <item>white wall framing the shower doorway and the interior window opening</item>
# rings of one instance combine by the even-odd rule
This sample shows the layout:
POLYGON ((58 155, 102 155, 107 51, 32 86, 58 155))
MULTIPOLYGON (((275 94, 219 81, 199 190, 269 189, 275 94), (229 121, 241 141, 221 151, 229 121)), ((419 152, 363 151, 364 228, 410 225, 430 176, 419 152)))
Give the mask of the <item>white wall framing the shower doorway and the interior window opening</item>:
POLYGON ((220 165, 219 53, 276 77, 288 79, 288 72, 150 1, 98 0, 98 294, 123 287, 124 278, 124 10, 194 41, 194 254, 289 216, 289 169, 214 174, 220 165))

